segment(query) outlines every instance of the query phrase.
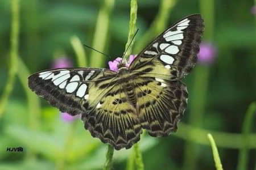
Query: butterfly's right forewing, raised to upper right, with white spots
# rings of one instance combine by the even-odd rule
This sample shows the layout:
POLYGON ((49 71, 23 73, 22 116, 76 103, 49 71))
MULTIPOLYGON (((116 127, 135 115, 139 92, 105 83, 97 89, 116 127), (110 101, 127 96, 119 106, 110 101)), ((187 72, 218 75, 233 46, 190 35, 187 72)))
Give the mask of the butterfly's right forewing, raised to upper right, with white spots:
POLYGON ((141 76, 179 80, 189 74, 197 61, 203 19, 199 14, 187 16, 166 29, 131 63, 129 69, 141 76), (152 70, 148 73, 148 68, 152 70))

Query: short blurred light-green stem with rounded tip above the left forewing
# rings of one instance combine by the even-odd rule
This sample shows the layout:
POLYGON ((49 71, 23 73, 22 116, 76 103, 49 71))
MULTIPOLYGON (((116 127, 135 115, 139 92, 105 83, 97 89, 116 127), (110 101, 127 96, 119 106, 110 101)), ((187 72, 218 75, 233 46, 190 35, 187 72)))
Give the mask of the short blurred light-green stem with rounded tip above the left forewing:
POLYGON ((85 50, 84 50, 84 47, 82 46, 81 41, 79 40, 79 37, 77 36, 71 37, 71 44, 76 53, 77 65, 79 67, 87 67, 88 64, 86 61, 85 50))

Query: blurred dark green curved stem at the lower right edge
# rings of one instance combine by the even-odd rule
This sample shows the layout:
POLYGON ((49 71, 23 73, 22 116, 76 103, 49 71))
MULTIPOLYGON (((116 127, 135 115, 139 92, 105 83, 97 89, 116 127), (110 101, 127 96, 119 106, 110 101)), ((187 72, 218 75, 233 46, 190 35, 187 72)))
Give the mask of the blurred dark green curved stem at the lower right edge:
MULTIPOLYGON (((243 128, 242 128, 242 136, 243 136, 243 147, 240 149, 240 153, 238 155, 238 166, 237 170, 248 169, 248 141, 249 141, 249 134, 251 126, 253 126, 253 116, 256 113, 256 102, 251 103, 249 108, 247 109, 245 120, 243 121, 243 128)), ((255 122, 254 122, 255 123, 255 122)))

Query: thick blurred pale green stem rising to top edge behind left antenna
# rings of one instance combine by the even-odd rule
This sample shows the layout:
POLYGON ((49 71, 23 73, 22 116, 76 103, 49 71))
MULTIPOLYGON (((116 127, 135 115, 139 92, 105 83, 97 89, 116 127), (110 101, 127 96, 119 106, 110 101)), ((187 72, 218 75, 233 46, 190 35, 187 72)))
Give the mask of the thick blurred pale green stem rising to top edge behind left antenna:
MULTIPOLYGON (((104 52, 106 37, 109 30, 109 17, 112 13, 113 6, 114 0, 105 0, 104 6, 101 7, 98 13, 96 31, 94 33, 92 47, 99 50, 100 52, 104 52)), ((102 57, 102 54, 92 50, 90 56, 90 66, 100 67, 102 66, 102 63, 104 63, 104 57, 102 57)))

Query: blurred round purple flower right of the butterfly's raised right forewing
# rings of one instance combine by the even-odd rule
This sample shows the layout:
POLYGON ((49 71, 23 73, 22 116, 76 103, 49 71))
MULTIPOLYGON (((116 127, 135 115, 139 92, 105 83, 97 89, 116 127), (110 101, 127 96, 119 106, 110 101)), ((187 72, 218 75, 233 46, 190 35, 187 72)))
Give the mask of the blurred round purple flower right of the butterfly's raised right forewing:
POLYGON ((198 61, 202 64, 213 63, 216 55, 216 48, 209 42, 202 42, 200 44, 200 51, 198 54, 198 61))

